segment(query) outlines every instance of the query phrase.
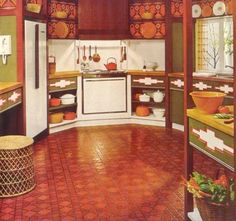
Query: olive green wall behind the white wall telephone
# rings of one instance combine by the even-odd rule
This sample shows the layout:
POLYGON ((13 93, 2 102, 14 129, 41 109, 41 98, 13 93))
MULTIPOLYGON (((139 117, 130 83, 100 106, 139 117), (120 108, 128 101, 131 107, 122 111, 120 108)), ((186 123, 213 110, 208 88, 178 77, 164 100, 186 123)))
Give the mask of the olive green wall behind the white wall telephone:
POLYGON ((2 64, 0 56, 0 82, 17 81, 16 17, 0 16, 0 35, 11 35, 12 54, 7 56, 7 64, 2 64))

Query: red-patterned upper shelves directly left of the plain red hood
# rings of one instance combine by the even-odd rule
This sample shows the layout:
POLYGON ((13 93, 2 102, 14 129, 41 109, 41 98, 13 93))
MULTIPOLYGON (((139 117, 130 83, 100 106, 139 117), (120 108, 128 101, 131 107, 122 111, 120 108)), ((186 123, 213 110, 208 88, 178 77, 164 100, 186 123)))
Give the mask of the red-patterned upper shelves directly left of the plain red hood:
POLYGON ((48 38, 77 38, 77 1, 48 1, 48 38))

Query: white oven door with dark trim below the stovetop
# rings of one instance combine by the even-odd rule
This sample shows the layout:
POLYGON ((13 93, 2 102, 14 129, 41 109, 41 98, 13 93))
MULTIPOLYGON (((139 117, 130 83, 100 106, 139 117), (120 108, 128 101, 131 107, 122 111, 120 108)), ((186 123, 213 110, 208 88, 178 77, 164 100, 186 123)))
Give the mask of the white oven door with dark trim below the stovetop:
POLYGON ((126 77, 84 78, 83 114, 127 112, 126 77))

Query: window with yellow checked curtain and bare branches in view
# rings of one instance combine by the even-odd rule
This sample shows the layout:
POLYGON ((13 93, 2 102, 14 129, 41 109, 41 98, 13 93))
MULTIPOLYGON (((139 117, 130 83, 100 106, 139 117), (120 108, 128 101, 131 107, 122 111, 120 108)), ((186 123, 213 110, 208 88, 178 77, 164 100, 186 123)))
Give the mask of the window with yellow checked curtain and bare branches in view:
POLYGON ((195 30, 196 71, 232 73, 232 17, 198 19, 195 30))

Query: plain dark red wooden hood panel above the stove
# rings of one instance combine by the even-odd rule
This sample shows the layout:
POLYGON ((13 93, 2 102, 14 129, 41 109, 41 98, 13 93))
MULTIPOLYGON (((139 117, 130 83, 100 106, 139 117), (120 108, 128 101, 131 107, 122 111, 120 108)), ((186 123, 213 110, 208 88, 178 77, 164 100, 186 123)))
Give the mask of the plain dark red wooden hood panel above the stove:
POLYGON ((128 0, 80 0, 80 39, 122 39, 129 34, 128 0))

